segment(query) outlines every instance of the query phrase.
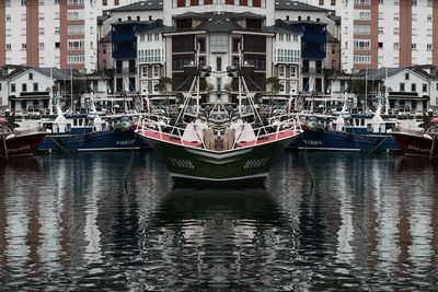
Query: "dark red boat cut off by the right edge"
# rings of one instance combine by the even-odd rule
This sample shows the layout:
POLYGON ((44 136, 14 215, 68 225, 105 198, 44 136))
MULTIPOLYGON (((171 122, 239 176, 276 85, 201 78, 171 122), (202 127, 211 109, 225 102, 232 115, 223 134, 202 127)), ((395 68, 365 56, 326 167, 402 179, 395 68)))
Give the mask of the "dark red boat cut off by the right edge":
POLYGON ((402 127, 390 131, 407 156, 438 157, 438 117, 433 117, 429 126, 423 130, 410 130, 402 127))

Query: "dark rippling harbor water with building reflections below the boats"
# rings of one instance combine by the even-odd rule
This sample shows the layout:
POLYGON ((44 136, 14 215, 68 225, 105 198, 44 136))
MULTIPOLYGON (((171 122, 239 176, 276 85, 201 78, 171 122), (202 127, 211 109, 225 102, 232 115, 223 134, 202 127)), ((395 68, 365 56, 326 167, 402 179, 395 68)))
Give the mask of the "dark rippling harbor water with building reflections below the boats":
POLYGON ((437 291, 438 164, 286 152, 173 189, 153 152, 0 162, 1 291, 437 291))

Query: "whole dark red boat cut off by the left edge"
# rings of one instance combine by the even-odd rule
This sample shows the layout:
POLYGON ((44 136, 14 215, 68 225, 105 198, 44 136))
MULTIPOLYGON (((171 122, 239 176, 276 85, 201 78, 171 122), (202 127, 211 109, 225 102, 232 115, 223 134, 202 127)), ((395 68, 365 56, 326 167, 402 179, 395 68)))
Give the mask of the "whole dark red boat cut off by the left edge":
POLYGON ((48 131, 43 128, 14 129, 13 124, 0 117, 0 157, 33 155, 47 133, 48 131))

